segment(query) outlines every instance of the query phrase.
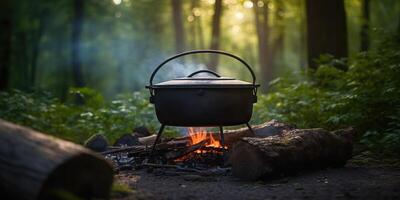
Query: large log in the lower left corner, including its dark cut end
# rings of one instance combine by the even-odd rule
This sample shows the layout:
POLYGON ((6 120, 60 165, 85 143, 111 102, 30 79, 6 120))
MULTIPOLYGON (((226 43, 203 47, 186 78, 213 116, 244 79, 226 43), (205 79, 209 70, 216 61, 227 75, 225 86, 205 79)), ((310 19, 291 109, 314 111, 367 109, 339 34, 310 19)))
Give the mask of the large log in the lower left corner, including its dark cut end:
POLYGON ((0 120, 4 199, 108 199, 111 165, 92 151, 0 120))

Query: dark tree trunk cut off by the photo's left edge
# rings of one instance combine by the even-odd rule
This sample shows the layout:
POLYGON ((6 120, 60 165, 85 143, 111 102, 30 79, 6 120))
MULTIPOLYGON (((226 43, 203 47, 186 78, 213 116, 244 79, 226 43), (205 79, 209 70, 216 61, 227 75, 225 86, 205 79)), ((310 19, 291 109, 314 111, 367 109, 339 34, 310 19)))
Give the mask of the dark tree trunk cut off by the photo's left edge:
POLYGON ((0 3, 0 91, 8 88, 11 56, 11 5, 9 1, 0 3))

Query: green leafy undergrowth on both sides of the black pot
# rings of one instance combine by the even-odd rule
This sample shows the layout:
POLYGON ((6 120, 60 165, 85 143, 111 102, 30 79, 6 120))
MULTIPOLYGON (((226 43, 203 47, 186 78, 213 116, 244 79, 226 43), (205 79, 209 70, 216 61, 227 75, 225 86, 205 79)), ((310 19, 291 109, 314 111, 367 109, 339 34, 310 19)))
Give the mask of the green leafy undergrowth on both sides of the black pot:
MULTIPOLYGON (((270 119, 300 128, 328 130, 352 126, 359 142, 372 151, 400 152, 400 37, 386 37, 377 50, 345 59, 323 55, 317 71, 287 74, 260 95, 252 123, 270 119), (301 77, 301 78, 299 78, 301 77)), ((0 93, 0 118, 83 143, 95 133, 111 141, 132 128, 158 128, 147 91, 105 101, 89 88, 73 88, 62 103, 47 92, 0 93), (76 105, 80 95, 84 105, 76 105)), ((170 130, 172 134, 174 130, 170 130)))

